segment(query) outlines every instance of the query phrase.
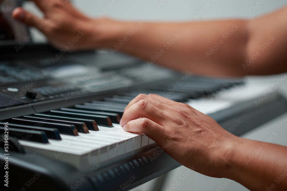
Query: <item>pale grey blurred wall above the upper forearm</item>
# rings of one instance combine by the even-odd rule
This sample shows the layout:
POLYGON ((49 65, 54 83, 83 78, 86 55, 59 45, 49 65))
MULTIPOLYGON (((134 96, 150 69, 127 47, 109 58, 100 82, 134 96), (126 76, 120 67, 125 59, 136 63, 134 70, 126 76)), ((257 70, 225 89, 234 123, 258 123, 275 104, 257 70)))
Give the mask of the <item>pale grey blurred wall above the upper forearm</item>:
MULTIPOLYGON (((97 13, 111 1, 74 0, 74 3, 86 14, 98 16, 97 13)), ((202 9, 202 6, 210 3, 211 6, 200 19, 250 18, 273 11, 287 3, 286 0, 261 0, 264 3, 253 11, 252 6, 256 1, 259 0, 115 0, 116 3, 105 15, 126 20, 193 20, 193 15, 202 9), (160 2, 165 4, 158 7, 157 3, 160 2)))

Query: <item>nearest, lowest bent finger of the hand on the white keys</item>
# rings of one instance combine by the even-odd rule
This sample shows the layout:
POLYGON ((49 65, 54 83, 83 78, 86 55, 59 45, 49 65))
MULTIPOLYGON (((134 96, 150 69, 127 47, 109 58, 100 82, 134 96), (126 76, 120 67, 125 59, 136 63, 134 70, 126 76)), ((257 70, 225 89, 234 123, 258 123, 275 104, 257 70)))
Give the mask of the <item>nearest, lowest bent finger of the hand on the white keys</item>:
POLYGON ((147 119, 140 118, 129 121, 125 125, 125 131, 132 133, 144 133, 146 136, 156 141, 156 143, 164 143, 167 137, 167 129, 158 123, 147 119))

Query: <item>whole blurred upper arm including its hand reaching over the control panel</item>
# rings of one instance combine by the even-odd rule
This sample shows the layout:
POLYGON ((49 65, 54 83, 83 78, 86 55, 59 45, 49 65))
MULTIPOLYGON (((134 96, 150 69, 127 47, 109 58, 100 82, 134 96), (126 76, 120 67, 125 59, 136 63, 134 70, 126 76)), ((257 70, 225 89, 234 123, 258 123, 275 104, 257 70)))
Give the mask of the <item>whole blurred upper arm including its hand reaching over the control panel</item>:
MULTIPOLYGON (((218 76, 287 71, 287 7, 252 20, 143 22, 139 25, 136 22, 90 19, 69 3, 62 4, 58 0, 34 1, 49 21, 41 30, 56 48, 65 47, 79 30, 83 30, 86 33, 84 38, 71 50, 108 48, 113 51, 117 50, 115 46, 119 40, 125 40, 119 51, 176 70, 218 76), (135 27, 137 31, 131 32, 135 27), (167 43, 169 41, 171 43, 167 43), (265 43, 269 46, 266 47, 265 43), (162 52, 161 56, 153 60, 151 57, 157 58, 156 52, 162 52), (256 57, 254 61, 252 57, 256 57)), ((41 23, 40 19, 21 8, 15 9, 13 16, 29 25, 41 23)))

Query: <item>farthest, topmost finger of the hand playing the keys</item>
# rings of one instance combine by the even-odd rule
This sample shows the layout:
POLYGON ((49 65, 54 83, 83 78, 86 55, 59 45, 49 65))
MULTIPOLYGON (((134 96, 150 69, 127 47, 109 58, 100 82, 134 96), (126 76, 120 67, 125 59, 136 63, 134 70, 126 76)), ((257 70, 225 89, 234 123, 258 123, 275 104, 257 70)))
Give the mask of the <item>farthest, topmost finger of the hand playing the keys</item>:
MULTIPOLYGON (((162 102, 160 101, 159 99, 157 99, 154 95, 156 94, 139 94, 137 95, 137 97, 135 97, 133 100, 130 101, 130 103, 127 105, 127 107, 125 107, 125 110, 126 111, 127 109, 129 109, 129 107, 131 107, 133 104, 141 101, 141 100, 146 100, 148 102, 150 102, 152 105, 158 107, 159 109, 163 109, 163 108, 166 108, 166 101, 165 102, 162 102)), ((161 96, 159 96, 161 97, 161 96)))

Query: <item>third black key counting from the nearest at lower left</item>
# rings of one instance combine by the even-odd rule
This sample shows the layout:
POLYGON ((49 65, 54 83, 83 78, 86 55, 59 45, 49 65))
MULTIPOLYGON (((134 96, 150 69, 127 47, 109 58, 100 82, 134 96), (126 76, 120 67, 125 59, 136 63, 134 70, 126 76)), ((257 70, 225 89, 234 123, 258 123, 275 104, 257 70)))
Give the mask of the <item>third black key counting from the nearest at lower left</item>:
POLYGON ((66 135, 79 135, 76 127, 74 125, 62 124, 62 123, 51 123, 45 121, 36 121, 31 119, 21 119, 21 118, 12 118, 12 123, 20 123, 23 125, 32 125, 35 127, 46 127, 46 128, 56 128, 62 134, 66 135))

